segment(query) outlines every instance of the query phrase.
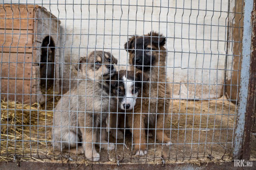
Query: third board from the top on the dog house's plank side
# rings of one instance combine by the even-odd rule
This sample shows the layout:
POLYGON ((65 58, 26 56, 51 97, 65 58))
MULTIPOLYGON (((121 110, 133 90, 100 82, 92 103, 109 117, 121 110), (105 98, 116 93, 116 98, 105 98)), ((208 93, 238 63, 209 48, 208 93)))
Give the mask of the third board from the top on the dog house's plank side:
POLYGON ((2 62, 0 65, 1 77, 9 77, 10 79, 30 79, 32 69, 31 60, 31 53, 26 53, 25 63, 23 53, 3 53, 3 55, 0 54, 0 62, 2 62))

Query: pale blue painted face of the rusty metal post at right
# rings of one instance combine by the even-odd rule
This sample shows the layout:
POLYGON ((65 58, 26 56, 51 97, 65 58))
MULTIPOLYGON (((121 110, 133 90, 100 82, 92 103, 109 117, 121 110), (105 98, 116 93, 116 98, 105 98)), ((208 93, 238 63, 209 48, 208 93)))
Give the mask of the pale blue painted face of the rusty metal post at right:
POLYGON ((249 66, 250 66, 250 60, 251 60, 252 13, 253 13, 254 1, 255 0, 244 0, 241 79, 240 79, 239 105, 238 105, 238 111, 237 111, 237 117, 236 117, 236 128, 235 128, 234 149, 233 149, 234 159, 241 159, 242 157, 244 128, 245 128, 245 113, 247 112, 248 97, 249 97, 249 100, 251 99, 250 96, 248 96, 248 89, 249 89, 248 87, 249 87, 249 79, 250 79, 249 66))

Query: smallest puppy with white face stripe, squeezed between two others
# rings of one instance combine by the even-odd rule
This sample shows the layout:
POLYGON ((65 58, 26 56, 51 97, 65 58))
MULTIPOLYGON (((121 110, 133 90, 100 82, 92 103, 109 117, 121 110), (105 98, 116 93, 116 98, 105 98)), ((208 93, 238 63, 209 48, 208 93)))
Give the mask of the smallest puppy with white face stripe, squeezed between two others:
MULTIPOLYGON (((126 112, 127 119, 126 122, 124 122, 124 114, 118 114, 118 117, 114 114, 111 116, 111 133, 112 136, 116 139, 123 139, 123 133, 118 130, 119 128, 124 128, 124 123, 126 123, 126 127, 130 128, 130 131, 133 133, 133 135, 136 135, 137 133, 142 133, 141 131, 144 130, 132 130, 133 123, 140 124, 139 119, 133 119, 133 114, 139 115, 141 113, 141 91, 145 83, 149 80, 149 78, 146 75, 143 75, 140 72, 134 73, 133 71, 126 71, 126 70, 120 70, 118 77, 118 84, 117 88, 115 89, 115 95, 117 97, 117 103, 118 103, 118 110, 119 112, 126 112), (117 120, 116 120, 117 119, 117 120), (138 121, 139 120, 139 121, 138 121), (117 125, 116 125, 117 122, 117 125), (116 128, 116 129, 113 129, 116 128)), ((142 103, 143 105, 143 103, 142 103)), ((144 116, 142 114, 142 116, 144 116)), ((144 128, 144 127, 143 127, 144 128)), ((140 136, 140 135, 139 135, 140 136)), ((139 138, 134 139, 135 143, 139 141, 139 138)), ((135 155, 141 155, 139 150, 134 150, 135 155)), ((146 153, 143 153, 146 154, 146 153)))

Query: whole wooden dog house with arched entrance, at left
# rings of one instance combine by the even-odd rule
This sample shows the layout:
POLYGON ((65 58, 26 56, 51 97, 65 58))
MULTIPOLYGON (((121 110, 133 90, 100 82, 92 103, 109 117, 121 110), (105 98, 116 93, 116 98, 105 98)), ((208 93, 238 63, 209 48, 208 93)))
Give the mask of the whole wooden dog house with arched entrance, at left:
POLYGON ((40 6, 0 5, 1 99, 43 103, 45 89, 59 92, 59 24, 40 6))

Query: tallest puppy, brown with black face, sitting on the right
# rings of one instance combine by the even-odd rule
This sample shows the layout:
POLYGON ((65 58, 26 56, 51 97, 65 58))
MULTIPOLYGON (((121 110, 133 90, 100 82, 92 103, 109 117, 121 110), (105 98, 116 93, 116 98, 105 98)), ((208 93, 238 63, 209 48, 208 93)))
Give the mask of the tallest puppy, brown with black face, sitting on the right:
MULTIPOLYGON (((133 128, 140 128, 139 120, 142 122, 141 128, 147 128, 147 124, 152 128, 156 128, 156 139, 160 143, 171 144, 170 139, 164 132, 164 114, 169 113, 170 87, 166 75, 166 58, 167 51, 164 47, 166 38, 157 32, 150 32, 144 36, 132 36, 128 42, 124 44, 124 49, 129 52, 129 64, 133 65, 132 70, 143 72, 149 77, 149 83, 143 85, 142 89, 142 110, 134 110, 136 113, 143 114, 135 116, 133 120, 133 128), (150 99, 149 99, 150 98, 150 99), (147 117, 149 115, 149 118, 147 117), (157 115, 157 117, 156 117, 157 115), (149 122, 147 120, 149 119, 149 122), (155 126, 156 121, 156 126, 155 126), (146 122, 146 123, 145 123, 146 122)), ((146 143, 145 131, 140 134, 133 135, 135 143, 146 143), (140 142, 138 142, 140 141, 140 142)), ((139 155, 143 156, 147 153, 146 145, 135 145, 135 150, 139 151, 139 155)))

